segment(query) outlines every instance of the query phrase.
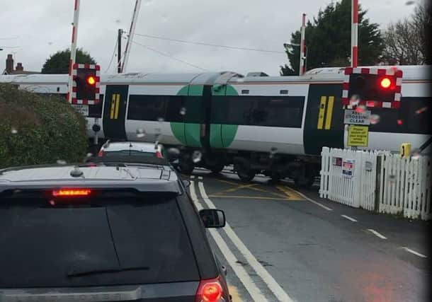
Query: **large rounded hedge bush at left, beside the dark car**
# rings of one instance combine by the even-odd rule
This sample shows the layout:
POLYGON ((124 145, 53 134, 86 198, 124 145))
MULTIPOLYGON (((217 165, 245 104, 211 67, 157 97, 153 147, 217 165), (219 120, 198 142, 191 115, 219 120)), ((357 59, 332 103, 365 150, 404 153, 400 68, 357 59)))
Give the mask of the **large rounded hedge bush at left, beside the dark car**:
POLYGON ((86 120, 64 98, 0 84, 0 168, 82 161, 86 120))

